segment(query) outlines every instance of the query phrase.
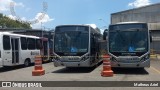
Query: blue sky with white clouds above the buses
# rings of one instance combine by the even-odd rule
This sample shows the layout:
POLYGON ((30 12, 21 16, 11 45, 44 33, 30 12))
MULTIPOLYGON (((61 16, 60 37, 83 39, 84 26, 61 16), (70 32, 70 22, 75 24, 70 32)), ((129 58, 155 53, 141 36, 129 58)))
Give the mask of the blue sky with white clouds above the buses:
POLYGON ((0 0, 0 13, 31 22, 33 29, 54 29, 63 24, 96 24, 108 28, 110 14, 159 0, 0 0))

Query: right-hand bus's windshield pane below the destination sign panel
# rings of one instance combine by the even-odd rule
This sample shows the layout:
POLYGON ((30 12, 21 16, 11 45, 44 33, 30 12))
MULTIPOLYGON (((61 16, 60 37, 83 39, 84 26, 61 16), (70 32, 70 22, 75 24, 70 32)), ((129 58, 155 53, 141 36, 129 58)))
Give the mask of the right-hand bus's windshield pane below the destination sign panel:
POLYGON ((145 31, 111 32, 111 52, 145 52, 147 51, 147 34, 145 31))

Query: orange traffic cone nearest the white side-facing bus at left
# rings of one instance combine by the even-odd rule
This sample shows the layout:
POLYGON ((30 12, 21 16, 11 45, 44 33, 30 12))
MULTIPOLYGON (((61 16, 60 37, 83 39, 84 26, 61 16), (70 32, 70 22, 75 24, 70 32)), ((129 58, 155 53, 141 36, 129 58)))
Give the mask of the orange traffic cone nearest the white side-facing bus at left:
POLYGON ((32 76, 41 76, 45 74, 45 70, 42 67, 42 57, 35 56, 34 70, 32 71, 32 76))

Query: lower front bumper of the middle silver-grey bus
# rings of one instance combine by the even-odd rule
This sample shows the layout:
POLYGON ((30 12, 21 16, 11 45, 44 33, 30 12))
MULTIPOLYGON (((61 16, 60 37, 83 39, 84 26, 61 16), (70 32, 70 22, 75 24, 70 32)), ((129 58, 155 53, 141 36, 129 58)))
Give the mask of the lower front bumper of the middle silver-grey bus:
POLYGON ((65 67, 92 67, 89 60, 79 62, 61 62, 54 60, 54 66, 65 66, 65 67))

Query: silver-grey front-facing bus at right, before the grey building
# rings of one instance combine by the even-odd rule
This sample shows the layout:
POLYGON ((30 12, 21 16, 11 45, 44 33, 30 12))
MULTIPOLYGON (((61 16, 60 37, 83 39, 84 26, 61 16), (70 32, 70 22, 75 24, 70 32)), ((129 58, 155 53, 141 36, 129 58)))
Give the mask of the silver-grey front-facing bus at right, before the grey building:
POLYGON ((150 67, 150 33, 147 23, 123 22, 108 30, 108 54, 112 67, 150 67))

